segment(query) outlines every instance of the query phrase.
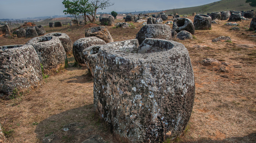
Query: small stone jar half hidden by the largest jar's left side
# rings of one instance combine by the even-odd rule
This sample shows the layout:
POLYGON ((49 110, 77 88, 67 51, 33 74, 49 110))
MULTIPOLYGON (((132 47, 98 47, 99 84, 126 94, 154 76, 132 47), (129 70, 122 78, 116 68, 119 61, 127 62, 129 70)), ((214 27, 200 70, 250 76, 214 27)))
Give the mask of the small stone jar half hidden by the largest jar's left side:
POLYGON ((93 45, 83 50, 84 60, 88 71, 94 77, 99 48, 102 45, 93 45))

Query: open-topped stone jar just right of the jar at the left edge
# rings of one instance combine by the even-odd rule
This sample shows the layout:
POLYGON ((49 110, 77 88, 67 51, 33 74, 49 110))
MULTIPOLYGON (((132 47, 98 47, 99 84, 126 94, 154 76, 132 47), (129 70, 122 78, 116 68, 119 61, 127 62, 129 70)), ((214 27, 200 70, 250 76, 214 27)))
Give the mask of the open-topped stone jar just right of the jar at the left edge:
POLYGON ((61 41, 55 36, 35 37, 26 44, 30 44, 35 48, 44 73, 64 68, 67 64, 66 52, 61 41))

